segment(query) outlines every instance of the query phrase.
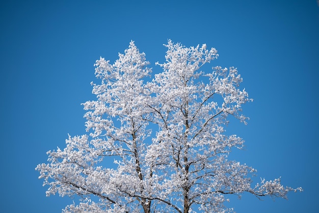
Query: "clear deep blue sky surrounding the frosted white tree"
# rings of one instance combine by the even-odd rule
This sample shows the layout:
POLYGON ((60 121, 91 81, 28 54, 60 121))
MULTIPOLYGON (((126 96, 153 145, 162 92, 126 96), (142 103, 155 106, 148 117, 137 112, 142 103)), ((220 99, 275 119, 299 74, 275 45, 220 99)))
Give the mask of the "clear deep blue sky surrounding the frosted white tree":
MULTIPOLYGON (((315 0, 2 1, 0 3, 0 212, 61 212, 70 198, 45 197, 35 167, 48 150, 85 134, 81 103, 94 100, 93 64, 130 40, 161 71, 168 39, 206 43, 238 68, 249 96, 245 142, 230 158, 302 193, 284 199, 230 197, 237 213, 317 212, 319 192, 319 6, 315 0)), ((208 70, 209 71, 209 70, 208 70)), ((259 177, 258 177, 259 178, 259 177)))

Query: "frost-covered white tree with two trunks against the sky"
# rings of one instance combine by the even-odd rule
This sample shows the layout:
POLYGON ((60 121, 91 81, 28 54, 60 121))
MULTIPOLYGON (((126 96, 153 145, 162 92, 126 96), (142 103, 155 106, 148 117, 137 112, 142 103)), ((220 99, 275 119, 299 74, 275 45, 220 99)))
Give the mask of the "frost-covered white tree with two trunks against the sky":
POLYGON ((203 65, 217 50, 184 47, 171 40, 163 72, 150 81, 145 54, 134 42, 110 64, 96 61, 95 101, 83 103, 89 135, 70 137, 39 164, 46 195, 79 196, 64 212, 231 212, 228 194, 286 198, 280 179, 252 187, 255 169, 229 161, 244 141, 226 135, 228 117, 248 120, 236 68, 203 65), (109 166, 114 162, 113 167, 109 166), (109 168, 108 168, 109 166, 109 168))

